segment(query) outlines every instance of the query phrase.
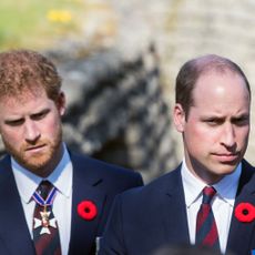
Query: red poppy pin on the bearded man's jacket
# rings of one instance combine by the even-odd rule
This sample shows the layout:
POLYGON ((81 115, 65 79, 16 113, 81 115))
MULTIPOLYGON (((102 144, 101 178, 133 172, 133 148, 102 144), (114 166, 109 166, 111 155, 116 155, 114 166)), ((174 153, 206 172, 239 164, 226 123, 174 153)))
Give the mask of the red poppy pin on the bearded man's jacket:
POLYGON ((78 214, 86 221, 92 221, 98 215, 98 208, 95 204, 89 200, 82 201, 76 206, 76 211, 78 211, 78 214))

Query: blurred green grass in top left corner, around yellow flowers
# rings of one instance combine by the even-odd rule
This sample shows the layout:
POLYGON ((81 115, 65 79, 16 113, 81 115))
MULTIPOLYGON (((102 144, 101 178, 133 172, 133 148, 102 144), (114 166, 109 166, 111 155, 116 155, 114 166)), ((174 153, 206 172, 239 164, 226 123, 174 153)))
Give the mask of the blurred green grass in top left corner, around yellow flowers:
POLYGON ((1 0, 0 51, 10 48, 43 49, 62 38, 79 34, 84 13, 82 0, 1 0), (70 22, 48 19, 50 10, 67 10, 70 22))

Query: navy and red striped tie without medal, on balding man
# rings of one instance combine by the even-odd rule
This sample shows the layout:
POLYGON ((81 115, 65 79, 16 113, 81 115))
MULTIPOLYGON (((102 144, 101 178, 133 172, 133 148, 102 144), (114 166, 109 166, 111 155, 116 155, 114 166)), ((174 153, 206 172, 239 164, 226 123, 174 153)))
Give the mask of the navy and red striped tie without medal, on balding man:
POLYGON ((211 201, 215 194, 216 191, 212 186, 206 186, 203 190, 203 201, 196 217, 195 243, 220 251, 217 226, 211 206, 211 201))

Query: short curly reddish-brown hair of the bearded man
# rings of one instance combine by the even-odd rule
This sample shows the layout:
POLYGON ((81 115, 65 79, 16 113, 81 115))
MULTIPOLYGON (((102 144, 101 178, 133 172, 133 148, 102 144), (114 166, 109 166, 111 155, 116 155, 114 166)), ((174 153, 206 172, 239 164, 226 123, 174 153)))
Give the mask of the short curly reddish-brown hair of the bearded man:
POLYGON ((10 50, 0 53, 0 98, 17 96, 22 91, 45 90, 55 101, 61 89, 61 78, 55 65, 44 55, 31 50, 10 50))

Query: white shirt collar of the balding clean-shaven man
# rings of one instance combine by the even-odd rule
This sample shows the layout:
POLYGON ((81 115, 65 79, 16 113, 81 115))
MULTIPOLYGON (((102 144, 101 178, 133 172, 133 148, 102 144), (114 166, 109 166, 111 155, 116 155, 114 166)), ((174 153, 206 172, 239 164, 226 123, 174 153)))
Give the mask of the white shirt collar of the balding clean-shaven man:
MULTIPOLYGON (((217 191, 216 195, 232 206, 234 206, 241 172, 242 163, 237 165, 233 173, 225 175, 218 183, 213 185, 217 191)), ((200 198, 202 190, 206 186, 206 184, 192 174, 192 172, 187 169, 185 159, 183 160, 181 174, 186 206, 190 207, 200 198)))

